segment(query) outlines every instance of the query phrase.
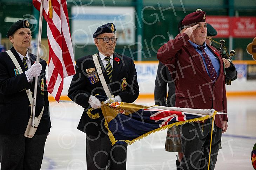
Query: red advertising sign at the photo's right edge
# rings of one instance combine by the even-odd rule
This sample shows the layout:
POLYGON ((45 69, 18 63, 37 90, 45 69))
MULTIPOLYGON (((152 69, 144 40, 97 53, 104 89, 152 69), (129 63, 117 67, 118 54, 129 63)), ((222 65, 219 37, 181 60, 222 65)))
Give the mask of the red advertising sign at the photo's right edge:
POLYGON ((256 37, 256 17, 231 17, 230 27, 235 38, 256 37))

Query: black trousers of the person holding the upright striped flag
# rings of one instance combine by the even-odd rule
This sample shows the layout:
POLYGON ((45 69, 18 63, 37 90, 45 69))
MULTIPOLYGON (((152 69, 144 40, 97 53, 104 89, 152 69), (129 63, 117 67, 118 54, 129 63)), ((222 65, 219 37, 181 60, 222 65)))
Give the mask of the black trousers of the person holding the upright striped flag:
POLYGON ((0 134, 1 170, 40 170, 47 133, 33 138, 0 134))

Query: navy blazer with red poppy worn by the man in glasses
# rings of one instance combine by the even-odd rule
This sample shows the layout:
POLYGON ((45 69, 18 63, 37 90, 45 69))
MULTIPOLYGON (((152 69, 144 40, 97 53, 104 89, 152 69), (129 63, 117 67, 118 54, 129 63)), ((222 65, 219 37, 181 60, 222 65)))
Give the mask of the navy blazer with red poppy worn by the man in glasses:
MULTIPOLYGON (((135 64, 132 58, 114 53, 112 83, 110 83, 109 78, 107 77, 107 73, 100 57, 99 62, 101 64, 101 69, 103 71, 106 83, 110 87, 110 92, 112 92, 112 94, 115 96, 120 95, 122 102, 131 103, 136 100, 139 95, 139 85, 137 82, 135 64), (121 86, 123 78, 126 78, 127 82, 125 89, 122 89, 121 86)), ((76 61, 76 74, 73 76, 70 84, 68 97, 85 108, 80 119, 78 129, 93 136, 103 137, 107 134, 107 130, 104 126, 105 119, 101 109, 99 109, 100 118, 90 119, 87 114, 87 110, 90 108, 88 103, 90 95, 95 96, 95 94, 99 94, 106 96, 101 81, 93 84, 91 83, 88 77, 89 73, 86 71, 86 69, 92 68, 95 68, 92 55, 81 57, 76 61)), ((98 74, 97 76, 99 77, 98 74)))

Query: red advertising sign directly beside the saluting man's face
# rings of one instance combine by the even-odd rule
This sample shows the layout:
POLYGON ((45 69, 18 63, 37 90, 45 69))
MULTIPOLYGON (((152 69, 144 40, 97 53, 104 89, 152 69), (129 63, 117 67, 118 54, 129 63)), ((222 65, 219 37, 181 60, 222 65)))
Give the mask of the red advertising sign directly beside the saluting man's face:
POLYGON ((217 37, 228 38, 230 36, 230 17, 228 16, 206 16, 206 22, 216 29, 217 37))

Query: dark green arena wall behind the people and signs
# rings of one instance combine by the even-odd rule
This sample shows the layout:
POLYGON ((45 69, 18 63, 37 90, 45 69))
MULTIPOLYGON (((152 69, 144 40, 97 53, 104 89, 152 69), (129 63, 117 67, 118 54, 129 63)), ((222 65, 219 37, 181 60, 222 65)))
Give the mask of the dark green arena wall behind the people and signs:
MULTIPOLYGON (((75 0, 68 1, 68 12, 73 5, 83 6, 83 5, 96 5, 96 6, 137 6, 138 0, 75 0)), ((256 3, 255 0, 211 0, 201 1, 201 0, 143 0, 143 21, 142 22, 142 32, 143 32, 143 54, 142 60, 156 60, 156 51, 161 47, 161 44, 167 42, 169 37, 175 37, 178 33, 177 24, 184 16, 188 13, 194 12, 197 8, 201 8, 206 11, 207 15, 231 15, 235 16, 256 16, 256 3), (171 8, 171 3, 173 3, 173 8, 171 8), (228 5, 231 4, 231 5, 228 5), (233 5, 232 5, 233 4, 233 5), (162 10, 160 12, 159 6, 162 10), (185 11, 184 11, 185 10, 185 11), (163 16, 162 16, 163 15, 163 16)), ((38 17, 39 12, 36 11, 32 5, 32 0, 0 0, 0 33, 2 38, 5 37, 9 27, 12 23, 5 22, 6 17, 20 17, 24 15, 34 15, 38 17)), ((72 20, 70 22, 70 27, 72 27, 72 20)), ((137 21, 136 21, 137 22, 137 21)), ((46 34, 46 21, 43 21, 42 28, 42 38, 47 38, 46 34)), ((36 30, 37 31, 37 30, 36 30)), ((33 38, 36 35, 36 31, 33 33, 33 38)), ((136 30, 137 31, 137 30, 136 30)), ((137 37, 136 37, 137 40, 137 37)), ((219 39, 216 39, 219 41, 219 39)), ((229 40, 226 40, 226 44, 229 44, 229 40)), ((233 47, 234 49, 242 49, 243 59, 251 59, 251 56, 247 54, 246 47, 247 44, 252 41, 252 38, 234 38, 233 47)), ((227 46, 227 49, 229 47, 227 46)), ((85 55, 94 54, 97 49, 94 45, 87 45, 86 47, 80 48, 75 47, 75 58, 80 58, 85 55)), ((137 45, 116 45, 116 52, 121 54, 132 56, 137 59, 137 45)))

